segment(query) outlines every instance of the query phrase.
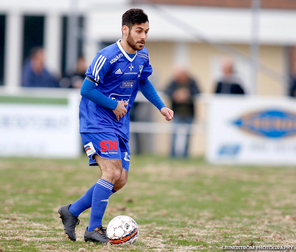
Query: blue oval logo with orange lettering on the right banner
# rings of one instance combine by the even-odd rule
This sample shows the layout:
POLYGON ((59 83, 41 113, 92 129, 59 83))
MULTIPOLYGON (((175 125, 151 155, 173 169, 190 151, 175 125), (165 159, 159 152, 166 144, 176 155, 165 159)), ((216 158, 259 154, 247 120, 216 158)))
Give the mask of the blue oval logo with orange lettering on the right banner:
POLYGON ((284 110, 263 110, 233 121, 243 131, 269 138, 296 135, 296 114, 284 110))

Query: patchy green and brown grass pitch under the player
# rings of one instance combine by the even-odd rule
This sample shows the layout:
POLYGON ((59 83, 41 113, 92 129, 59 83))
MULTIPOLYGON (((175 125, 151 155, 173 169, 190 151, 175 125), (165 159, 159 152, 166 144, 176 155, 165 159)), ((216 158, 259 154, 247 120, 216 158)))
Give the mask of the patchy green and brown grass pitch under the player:
POLYGON ((296 167, 213 166, 202 159, 133 156, 126 186, 110 197, 117 215, 139 224, 135 245, 84 243, 63 233, 59 206, 100 176, 87 157, 0 159, 0 251, 225 251, 227 245, 296 245, 296 167))

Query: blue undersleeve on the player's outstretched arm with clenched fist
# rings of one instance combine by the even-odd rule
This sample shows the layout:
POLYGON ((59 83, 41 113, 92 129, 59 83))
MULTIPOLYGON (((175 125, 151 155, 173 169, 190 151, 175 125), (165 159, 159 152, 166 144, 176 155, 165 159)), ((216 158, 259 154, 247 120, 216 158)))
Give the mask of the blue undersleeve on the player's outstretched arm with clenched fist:
POLYGON ((157 107, 159 110, 162 107, 165 107, 163 101, 160 99, 154 86, 148 80, 148 78, 146 80, 140 80, 139 89, 140 89, 141 93, 144 95, 144 97, 149 102, 151 102, 155 107, 157 107))

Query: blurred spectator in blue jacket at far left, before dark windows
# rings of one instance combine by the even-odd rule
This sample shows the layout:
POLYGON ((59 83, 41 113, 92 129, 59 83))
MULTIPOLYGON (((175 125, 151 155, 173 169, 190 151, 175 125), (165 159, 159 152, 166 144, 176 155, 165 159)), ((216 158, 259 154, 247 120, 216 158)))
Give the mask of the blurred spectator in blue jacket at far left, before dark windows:
POLYGON ((58 87, 58 80, 44 67, 45 52, 40 46, 30 50, 30 58, 25 61, 22 86, 58 87))

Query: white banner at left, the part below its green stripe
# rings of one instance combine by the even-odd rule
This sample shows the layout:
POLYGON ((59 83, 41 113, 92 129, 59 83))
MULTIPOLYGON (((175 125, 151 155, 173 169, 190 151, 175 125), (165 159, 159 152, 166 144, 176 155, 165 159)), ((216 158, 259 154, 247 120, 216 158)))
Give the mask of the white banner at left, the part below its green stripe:
POLYGON ((81 154, 77 95, 65 98, 64 104, 4 98, 0 100, 0 156, 74 158, 81 154))

